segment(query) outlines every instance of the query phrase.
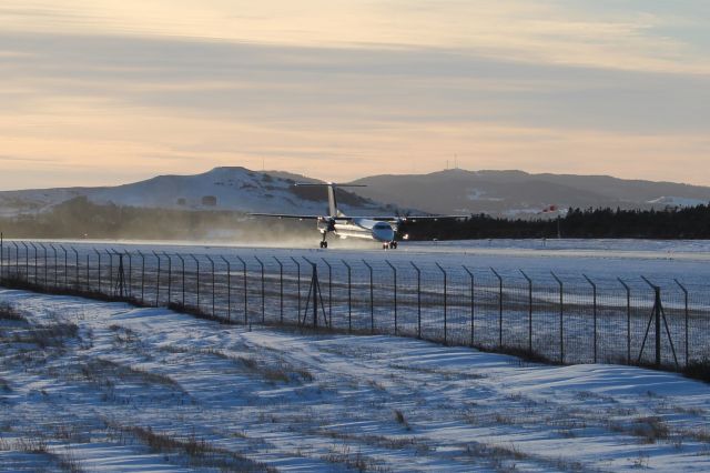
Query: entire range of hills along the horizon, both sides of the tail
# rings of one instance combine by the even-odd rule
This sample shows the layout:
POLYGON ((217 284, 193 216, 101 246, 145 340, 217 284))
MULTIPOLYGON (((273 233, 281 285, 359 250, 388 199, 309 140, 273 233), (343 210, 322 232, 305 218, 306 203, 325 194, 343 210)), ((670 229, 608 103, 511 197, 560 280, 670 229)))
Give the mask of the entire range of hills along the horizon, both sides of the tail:
MULTIPOLYGON (((327 212, 321 182, 284 171, 215 168, 196 175, 159 175, 104 188, 0 192, 0 218, 48 212, 73 199, 92 204, 181 211, 313 213, 327 212)), ((417 175, 373 175, 354 181, 366 188, 338 190, 342 209, 354 215, 413 213, 535 217, 549 205, 567 208, 665 209, 710 202, 710 188, 672 182, 623 180, 607 175, 529 174, 523 171, 465 171, 417 175), (417 209, 417 210, 413 210, 417 209)))

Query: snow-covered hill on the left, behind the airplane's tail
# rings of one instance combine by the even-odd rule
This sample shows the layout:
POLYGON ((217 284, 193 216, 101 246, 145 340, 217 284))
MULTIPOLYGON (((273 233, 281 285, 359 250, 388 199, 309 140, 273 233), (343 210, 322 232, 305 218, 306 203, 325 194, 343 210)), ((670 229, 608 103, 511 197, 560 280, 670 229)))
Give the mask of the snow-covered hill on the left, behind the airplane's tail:
MULTIPOLYGON (((160 175, 111 188, 71 188, 0 192, 0 217, 47 211, 78 197, 99 204, 241 212, 314 213, 327 209, 325 190, 294 188, 294 180, 244 168, 215 168, 196 175, 160 175)), ((338 191, 345 212, 393 212, 368 199, 338 191)))

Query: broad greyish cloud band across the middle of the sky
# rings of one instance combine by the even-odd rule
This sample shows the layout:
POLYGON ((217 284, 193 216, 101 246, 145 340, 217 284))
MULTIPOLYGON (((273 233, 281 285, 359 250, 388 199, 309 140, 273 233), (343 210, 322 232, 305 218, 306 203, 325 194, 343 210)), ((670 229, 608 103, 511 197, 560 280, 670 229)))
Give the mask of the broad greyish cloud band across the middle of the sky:
MULTIPOLYGON (((531 64, 462 50, 352 50, 201 40, 0 34, 6 90, 295 127, 495 122, 707 132, 707 77, 531 64), (31 58, 31 59, 28 59, 31 58)), ((17 95, 17 94, 16 94, 17 95)), ((14 103, 22 108, 22 103, 14 103)))

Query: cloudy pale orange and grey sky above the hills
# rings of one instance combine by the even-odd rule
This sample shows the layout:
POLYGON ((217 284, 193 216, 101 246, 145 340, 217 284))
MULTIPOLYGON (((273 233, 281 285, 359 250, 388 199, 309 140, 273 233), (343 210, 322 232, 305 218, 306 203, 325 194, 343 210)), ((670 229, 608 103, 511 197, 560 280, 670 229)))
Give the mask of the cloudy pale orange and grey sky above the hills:
POLYGON ((221 165, 710 185, 708 0, 2 0, 0 190, 221 165))

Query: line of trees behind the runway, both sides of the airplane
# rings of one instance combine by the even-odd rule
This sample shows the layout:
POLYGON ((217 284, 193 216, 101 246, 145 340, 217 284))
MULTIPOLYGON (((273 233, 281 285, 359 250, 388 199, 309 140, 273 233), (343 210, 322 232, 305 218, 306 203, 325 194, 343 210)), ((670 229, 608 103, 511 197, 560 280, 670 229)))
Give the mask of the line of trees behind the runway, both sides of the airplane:
MULTIPOLYGON (((242 212, 145 209, 75 198, 49 211, 0 218, 9 238, 250 240, 278 242, 314 236, 312 221, 250 219, 242 212)), ((710 204, 663 210, 569 209, 559 218, 419 220, 399 228, 410 240, 473 239, 710 239, 710 204)))

